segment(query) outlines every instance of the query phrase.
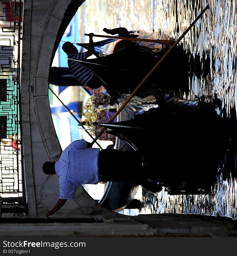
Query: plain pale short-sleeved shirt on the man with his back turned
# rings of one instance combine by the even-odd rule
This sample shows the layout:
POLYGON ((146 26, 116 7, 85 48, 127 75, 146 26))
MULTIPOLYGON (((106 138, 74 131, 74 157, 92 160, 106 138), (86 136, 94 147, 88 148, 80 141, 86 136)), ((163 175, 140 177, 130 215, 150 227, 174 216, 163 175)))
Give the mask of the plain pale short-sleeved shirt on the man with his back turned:
POLYGON ((87 148, 87 142, 75 140, 67 146, 55 163, 59 176, 60 199, 75 198, 76 186, 97 184, 99 148, 87 148))

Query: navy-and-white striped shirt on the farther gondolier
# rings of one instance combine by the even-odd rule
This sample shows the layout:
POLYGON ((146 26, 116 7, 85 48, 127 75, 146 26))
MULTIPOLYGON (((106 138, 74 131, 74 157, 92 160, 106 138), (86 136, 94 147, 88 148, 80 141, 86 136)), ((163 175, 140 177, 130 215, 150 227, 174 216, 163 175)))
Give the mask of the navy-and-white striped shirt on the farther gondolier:
MULTIPOLYGON (((86 53, 68 54, 68 58, 76 60, 85 60, 86 53)), ((74 77, 85 86, 87 86, 87 83, 93 77, 92 71, 82 66, 79 62, 68 60, 68 67, 70 72, 74 75, 74 77)))

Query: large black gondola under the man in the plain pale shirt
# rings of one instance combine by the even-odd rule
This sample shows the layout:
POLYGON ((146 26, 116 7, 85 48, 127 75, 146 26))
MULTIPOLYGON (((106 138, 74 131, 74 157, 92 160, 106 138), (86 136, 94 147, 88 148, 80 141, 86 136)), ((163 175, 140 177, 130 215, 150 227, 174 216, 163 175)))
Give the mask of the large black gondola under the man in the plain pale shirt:
POLYGON ((236 127, 214 109, 177 96, 130 120, 93 124, 112 129, 117 136, 123 134, 145 155, 170 193, 200 193, 200 188, 210 188, 231 127, 236 127))

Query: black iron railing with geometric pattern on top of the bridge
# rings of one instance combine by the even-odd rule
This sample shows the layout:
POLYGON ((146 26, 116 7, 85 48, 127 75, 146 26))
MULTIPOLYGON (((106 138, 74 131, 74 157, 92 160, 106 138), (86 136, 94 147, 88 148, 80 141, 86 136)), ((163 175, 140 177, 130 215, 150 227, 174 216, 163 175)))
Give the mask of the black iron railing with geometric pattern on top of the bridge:
POLYGON ((23 0, 0 0, 0 196, 23 205, 20 53, 23 0))

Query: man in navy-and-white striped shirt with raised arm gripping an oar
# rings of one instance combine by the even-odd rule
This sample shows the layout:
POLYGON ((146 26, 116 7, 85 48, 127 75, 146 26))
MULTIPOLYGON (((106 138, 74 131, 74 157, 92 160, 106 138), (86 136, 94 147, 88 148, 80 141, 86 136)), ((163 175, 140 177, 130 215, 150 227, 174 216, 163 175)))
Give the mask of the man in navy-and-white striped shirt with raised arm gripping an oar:
MULTIPOLYGON (((85 60, 86 58, 92 56, 94 51, 93 43, 93 33, 89 34, 89 47, 88 51, 83 53, 78 53, 78 49, 71 43, 65 42, 62 45, 62 50, 67 54, 68 58, 76 60, 85 60)), ((74 77, 81 82, 82 85, 89 87, 91 89, 99 88, 101 84, 101 79, 97 75, 93 74, 88 68, 84 67, 78 62, 68 60, 68 67, 70 72, 74 77)))

